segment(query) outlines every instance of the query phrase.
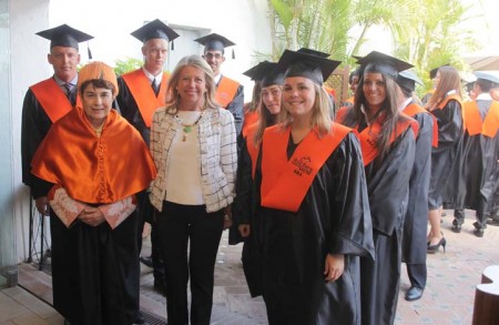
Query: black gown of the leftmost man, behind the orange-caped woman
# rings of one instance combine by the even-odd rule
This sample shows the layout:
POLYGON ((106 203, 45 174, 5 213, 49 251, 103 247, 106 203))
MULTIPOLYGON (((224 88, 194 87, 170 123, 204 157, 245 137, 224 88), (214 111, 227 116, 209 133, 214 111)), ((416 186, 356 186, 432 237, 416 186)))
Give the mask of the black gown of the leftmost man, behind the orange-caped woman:
MULTIPOLYGON (((61 90, 62 91, 62 90, 61 90)), ((71 92, 71 104, 77 102, 77 92, 71 92)), ((31 161, 34 152, 49 132, 52 121, 34 97, 31 89, 28 89, 22 103, 21 119, 21 160, 22 160, 22 183, 31 186, 31 161)))

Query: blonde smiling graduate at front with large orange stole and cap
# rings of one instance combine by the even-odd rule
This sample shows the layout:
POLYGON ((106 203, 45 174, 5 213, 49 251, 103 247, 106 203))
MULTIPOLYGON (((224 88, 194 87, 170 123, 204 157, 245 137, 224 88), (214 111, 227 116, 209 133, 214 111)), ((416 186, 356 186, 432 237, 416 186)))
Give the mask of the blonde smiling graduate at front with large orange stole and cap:
POLYGON ((360 144, 322 87, 338 63, 288 50, 278 62, 282 123, 263 136, 252 223, 269 324, 360 324, 373 231, 360 144))

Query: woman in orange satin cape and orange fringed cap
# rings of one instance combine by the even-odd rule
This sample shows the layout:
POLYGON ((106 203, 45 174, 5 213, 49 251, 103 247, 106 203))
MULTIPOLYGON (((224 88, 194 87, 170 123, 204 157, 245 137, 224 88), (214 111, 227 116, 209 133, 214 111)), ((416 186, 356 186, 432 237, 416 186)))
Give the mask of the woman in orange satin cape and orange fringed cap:
POLYGON ((71 324, 132 324, 140 276, 135 194, 155 166, 139 132, 111 110, 113 70, 90 63, 78 85, 83 106, 51 126, 32 162, 33 196, 51 206, 53 303, 71 324))

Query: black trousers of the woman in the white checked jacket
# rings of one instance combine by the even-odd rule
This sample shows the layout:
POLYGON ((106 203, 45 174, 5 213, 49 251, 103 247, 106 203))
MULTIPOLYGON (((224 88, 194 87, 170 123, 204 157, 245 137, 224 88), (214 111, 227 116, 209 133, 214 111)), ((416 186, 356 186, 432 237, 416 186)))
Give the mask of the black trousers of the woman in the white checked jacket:
POLYGON ((163 202, 156 230, 166 278, 170 325, 189 324, 187 282, 191 278, 191 324, 210 324, 216 253, 224 226, 223 210, 163 202), (187 252, 189 246, 189 252, 187 252))

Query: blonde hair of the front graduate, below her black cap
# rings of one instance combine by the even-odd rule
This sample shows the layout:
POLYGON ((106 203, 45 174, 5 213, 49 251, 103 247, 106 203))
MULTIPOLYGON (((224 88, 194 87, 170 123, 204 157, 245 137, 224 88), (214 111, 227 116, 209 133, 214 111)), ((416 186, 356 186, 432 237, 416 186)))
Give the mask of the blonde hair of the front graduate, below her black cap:
MULTIPOLYGON (((317 129, 318 136, 323 136, 332 130, 330 112, 333 111, 333 104, 324 87, 315 82, 312 83, 315 89, 315 101, 312 106, 310 126, 312 129, 317 129)), ((284 106, 283 104, 281 105, 284 106)), ((283 129, 286 129, 293 123, 293 116, 286 109, 281 110, 278 122, 282 123, 283 129)))

